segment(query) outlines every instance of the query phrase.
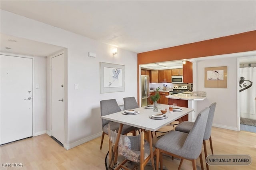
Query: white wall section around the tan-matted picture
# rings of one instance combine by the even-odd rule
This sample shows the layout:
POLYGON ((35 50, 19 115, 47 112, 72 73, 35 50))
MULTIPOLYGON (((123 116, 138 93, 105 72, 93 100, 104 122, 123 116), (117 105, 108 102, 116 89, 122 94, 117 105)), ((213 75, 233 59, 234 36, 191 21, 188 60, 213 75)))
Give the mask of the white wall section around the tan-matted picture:
POLYGON ((213 126, 238 130, 237 126, 237 62, 236 57, 197 61, 197 91, 206 91, 207 98, 197 102, 197 110, 217 102, 213 126), (205 88, 204 68, 228 67, 227 88, 205 88))

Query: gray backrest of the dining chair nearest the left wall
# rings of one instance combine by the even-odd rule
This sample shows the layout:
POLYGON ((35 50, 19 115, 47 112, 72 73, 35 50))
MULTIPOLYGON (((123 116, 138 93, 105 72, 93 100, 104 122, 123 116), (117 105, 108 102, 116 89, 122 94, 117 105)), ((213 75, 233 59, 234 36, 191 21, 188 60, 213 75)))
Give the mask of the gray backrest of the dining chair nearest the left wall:
MULTIPOLYGON (((101 100, 100 101, 100 114, 101 114, 101 116, 105 116, 105 115, 120 112, 120 111, 121 111, 121 109, 118 106, 118 104, 116 102, 116 99, 109 99, 109 100, 101 100)), ((103 128, 103 126, 105 126, 106 124, 108 124, 111 121, 106 120, 106 119, 101 119, 101 122, 102 122, 102 128, 103 128)))

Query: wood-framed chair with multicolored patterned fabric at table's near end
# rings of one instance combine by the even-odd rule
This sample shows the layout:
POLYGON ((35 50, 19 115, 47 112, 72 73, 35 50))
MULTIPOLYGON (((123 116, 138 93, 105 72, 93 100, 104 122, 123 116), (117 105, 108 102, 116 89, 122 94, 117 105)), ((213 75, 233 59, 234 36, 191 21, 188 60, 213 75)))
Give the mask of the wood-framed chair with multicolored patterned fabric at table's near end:
MULTIPOLYGON (((112 129, 112 122, 108 124, 108 134, 109 134, 109 153, 110 155, 117 154, 113 153, 113 145, 116 142, 117 133, 114 132, 112 129)), ((155 148, 153 147, 153 150, 155 148)), ((155 150, 153 151, 155 154, 155 150)), ((130 160, 132 162, 139 162, 140 163, 140 170, 144 170, 144 167, 149 162, 150 156, 150 146, 148 142, 144 141, 144 132, 141 132, 137 136, 126 136, 120 135, 119 142, 118 142, 118 155, 124 156, 124 160, 116 166, 115 170, 125 169, 128 170, 124 164, 130 160)), ((114 159, 113 159, 114 160, 114 159)), ((111 163, 109 163, 111 164, 111 163)))

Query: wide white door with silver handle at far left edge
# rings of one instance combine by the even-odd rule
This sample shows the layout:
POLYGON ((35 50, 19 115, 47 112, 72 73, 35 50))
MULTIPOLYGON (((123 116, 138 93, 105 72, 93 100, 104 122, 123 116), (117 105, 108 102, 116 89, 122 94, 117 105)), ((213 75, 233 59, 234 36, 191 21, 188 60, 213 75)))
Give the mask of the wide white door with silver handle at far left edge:
POLYGON ((0 55, 1 144, 33 136, 33 59, 0 55))

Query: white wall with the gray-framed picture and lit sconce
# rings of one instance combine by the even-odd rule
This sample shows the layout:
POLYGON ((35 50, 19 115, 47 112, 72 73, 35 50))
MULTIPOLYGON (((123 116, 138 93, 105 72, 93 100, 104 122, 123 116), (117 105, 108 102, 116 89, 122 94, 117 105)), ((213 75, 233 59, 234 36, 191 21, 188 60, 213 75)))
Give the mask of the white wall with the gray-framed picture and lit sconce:
MULTIPOLYGON (((110 45, 3 10, 1 32, 67 48, 66 148, 101 135, 100 100, 116 98, 118 104, 122 104, 124 97, 137 99, 137 54, 134 52, 118 49, 118 54, 113 56, 110 45), (88 52, 96 53, 96 58, 88 57, 88 52), (100 94, 100 62, 125 65, 124 92, 100 94), (79 84, 78 90, 74 89, 75 83, 79 84)), ((49 128, 47 124, 47 130, 49 128)))

